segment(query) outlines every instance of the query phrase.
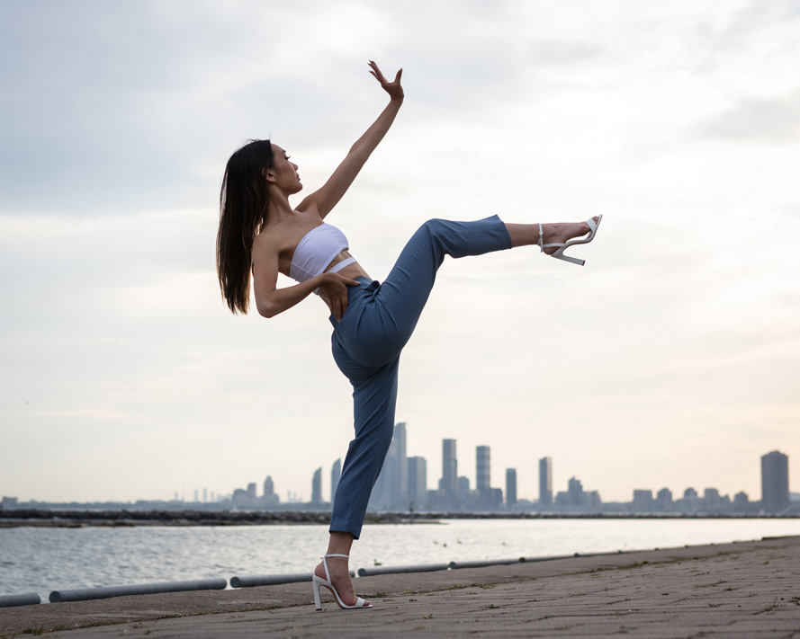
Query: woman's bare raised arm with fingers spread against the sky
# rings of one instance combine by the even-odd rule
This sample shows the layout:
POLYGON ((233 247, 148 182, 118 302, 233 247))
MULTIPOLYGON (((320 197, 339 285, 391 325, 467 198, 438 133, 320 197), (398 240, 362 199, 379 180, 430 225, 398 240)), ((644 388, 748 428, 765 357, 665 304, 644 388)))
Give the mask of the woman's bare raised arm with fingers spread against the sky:
POLYGON ((383 136, 386 135, 397 112, 400 111, 400 105, 403 103, 403 87, 400 85, 400 77, 403 75, 403 70, 400 69, 394 80, 389 82, 372 60, 370 60, 369 66, 370 73, 381 83, 383 90, 389 93, 389 104, 373 122, 373 125, 366 129, 364 135, 358 138, 350 148, 342 164, 339 164, 337 170, 328 178, 328 182, 325 182, 319 191, 314 191, 305 200, 302 200, 298 209, 314 207, 319 211, 319 217, 327 216, 350 188, 355 176, 361 171, 361 167, 372 155, 383 136))

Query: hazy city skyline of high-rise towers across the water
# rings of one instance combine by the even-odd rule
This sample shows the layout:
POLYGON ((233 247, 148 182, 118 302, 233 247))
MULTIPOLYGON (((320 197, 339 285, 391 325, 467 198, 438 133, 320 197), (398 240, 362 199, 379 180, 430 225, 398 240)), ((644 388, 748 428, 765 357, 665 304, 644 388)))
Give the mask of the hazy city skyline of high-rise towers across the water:
MULTIPOLYGON (((601 511, 604 501, 598 490, 584 490, 582 482, 572 476, 566 484, 566 490, 553 491, 553 459, 543 457, 538 460, 540 485, 538 487, 539 499, 527 499, 517 495, 517 469, 505 469, 505 493, 499 487, 492 487, 490 483, 491 447, 481 445, 475 448, 475 478, 474 489, 471 487, 467 476, 457 475, 456 493, 446 490, 445 476, 439 478, 438 489, 428 490, 427 462, 424 457, 408 457, 408 429, 406 422, 399 422, 394 427, 391 446, 387 452, 386 460, 381 474, 369 502, 369 510, 475 510, 498 511, 514 510, 517 503, 523 506, 522 510, 535 507, 544 511, 601 511)), ((455 439, 442 440, 443 466, 451 470, 457 466, 457 441, 455 439)), ((652 489, 632 488, 632 499, 629 501, 606 501, 606 503, 630 503, 634 512, 698 512, 698 511, 724 511, 724 510, 752 510, 754 503, 760 503, 760 510, 779 512, 790 505, 790 484, 788 477, 788 456, 778 450, 760 457, 760 484, 761 498, 755 499, 744 491, 733 495, 722 494, 713 486, 702 489, 702 495, 693 486, 688 486, 679 497, 673 497, 669 487, 662 487, 656 497, 652 489)), ((282 505, 299 503, 310 507, 324 506, 326 502, 332 503, 339 477, 341 476, 341 458, 337 458, 330 469, 330 499, 322 499, 325 487, 322 484, 324 466, 317 468, 311 477, 310 501, 298 501, 297 493, 287 490, 287 501, 282 505)), ((194 500, 198 502, 199 489, 194 490, 194 500)), ((202 489, 203 501, 207 503, 207 489, 202 489)), ((800 493, 797 493, 800 495, 800 493)), ((4 497, 4 501, 8 498, 4 497)), ((177 495, 175 494, 175 501, 177 495)), ((214 493, 211 493, 214 501, 214 493)), ((267 475, 264 481, 264 493, 256 494, 256 483, 247 484, 247 489, 234 489, 232 494, 220 494, 217 501, 230 501, 232 506, 267 508, 276 507, 281 503, 280 497, 274 493, 274 481, 267 475)), ((8 501, 11 503, 12 501, 8 501)))

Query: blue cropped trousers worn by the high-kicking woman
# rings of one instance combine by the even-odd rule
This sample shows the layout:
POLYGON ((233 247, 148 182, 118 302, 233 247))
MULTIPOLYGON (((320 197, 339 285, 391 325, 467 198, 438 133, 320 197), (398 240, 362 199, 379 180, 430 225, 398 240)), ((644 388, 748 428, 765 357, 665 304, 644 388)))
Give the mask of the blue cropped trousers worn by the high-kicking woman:
POLYGON ((333 501, 331 532, 361 535, 367 502, 394 432, 400 351, 409 341, 445 255, 465 257, 511 248, 499 217, 475 222, 431 219, 403 248, 383 283, 358 278, 341 321, 331 315, 333 357, 353 385, 355 439, 333 501))

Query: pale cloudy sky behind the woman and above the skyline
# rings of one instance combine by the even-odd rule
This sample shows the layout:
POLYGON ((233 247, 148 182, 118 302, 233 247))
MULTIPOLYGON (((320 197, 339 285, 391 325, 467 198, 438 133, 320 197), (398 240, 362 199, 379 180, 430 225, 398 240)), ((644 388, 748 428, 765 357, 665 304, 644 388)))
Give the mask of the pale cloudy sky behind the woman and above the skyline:
POLYGON ((374 279, 430 217, 604 215, 582 268, 445 261, 400 366, 429 488, 457 439, 526 499, 545 456, 603 501, 758 500, 775 449, 800 489, 796 0, 6 0, 0 494, 328 494, 328 309, 227 311, 219 188, 249 138, 319 188, 386 102, 369 59, 405 103, 328 221, 374 279))

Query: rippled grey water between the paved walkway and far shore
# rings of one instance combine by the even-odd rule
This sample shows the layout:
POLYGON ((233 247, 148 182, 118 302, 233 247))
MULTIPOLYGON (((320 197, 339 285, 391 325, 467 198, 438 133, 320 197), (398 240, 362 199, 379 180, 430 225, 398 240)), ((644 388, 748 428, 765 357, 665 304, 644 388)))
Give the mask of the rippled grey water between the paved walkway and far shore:
MULTIPOLYGON (((644 550, 800 535, 800 519, 454 519, 367 526, 350 566, 644 550)), ((324 526, 0 529, 0 595, 310 572, 324 526)))

